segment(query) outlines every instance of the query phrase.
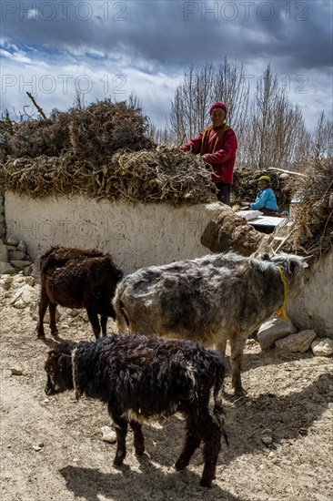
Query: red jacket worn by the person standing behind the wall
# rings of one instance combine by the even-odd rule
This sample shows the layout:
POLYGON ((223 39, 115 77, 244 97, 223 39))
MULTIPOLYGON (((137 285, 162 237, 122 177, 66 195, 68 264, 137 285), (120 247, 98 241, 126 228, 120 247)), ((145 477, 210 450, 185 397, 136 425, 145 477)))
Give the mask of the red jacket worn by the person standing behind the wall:
POLYGON ((195 155, 198 153, 201 155, 207 154, 207 163, 211 164, 214 169, 212 180, 214 182, 231 184, 236 160, 237 138, 233 129, 227 128, 222 137, 217 141, 217 134, 222 128, 226 129, 226 124, 220 127, 206 128, 197 138, 191 139, 186 145, 180 148, 183 151, 190 150, 195 155), (204 135, 206 136, 204 137, 204 135), (204 145, 203 138, 205 141, 204 145))

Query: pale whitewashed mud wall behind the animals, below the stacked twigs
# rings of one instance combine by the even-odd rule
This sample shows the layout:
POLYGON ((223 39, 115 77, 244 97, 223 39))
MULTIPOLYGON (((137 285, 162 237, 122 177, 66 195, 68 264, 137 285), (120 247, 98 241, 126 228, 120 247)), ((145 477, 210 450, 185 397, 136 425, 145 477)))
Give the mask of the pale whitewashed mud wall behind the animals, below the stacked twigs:
POLYGON ((7 234, 25 240, 34 259, 52 245, 97 248, 111 252, 126 273, 210 253, 200 243, 201 234, 208 221, 226 209, 219 202, 173 208, 5 193, 7 234))

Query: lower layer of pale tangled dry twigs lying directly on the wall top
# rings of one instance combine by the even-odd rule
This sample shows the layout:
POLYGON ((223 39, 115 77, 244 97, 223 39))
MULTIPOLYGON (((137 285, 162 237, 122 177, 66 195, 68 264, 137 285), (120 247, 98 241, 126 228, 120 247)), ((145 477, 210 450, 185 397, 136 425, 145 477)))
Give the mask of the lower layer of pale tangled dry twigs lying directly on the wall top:
POLYGON ((120 149, 108 164, 96 167, 70 152, 60 157, 8 158, 0 175, 5 189, 35 199, 81 194, 172 205, 217 199, 205 163, 177 148, 120 149))

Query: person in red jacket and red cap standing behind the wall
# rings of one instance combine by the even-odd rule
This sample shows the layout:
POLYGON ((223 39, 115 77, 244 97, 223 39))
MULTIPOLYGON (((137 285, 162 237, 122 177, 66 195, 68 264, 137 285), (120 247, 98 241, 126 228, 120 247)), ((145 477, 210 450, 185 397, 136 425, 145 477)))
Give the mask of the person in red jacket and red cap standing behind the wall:
POLYGON ((213 125, 205 128, 197 138, 190 139, 186 145, 179 148, 191 151, 212 166, 214 173, 212 181, 217 185, 217 199, 230 205, 231 184, 233 179, 237 138, 232 128, 225 124, 227 107, 216 103, 209 109, 213 125))

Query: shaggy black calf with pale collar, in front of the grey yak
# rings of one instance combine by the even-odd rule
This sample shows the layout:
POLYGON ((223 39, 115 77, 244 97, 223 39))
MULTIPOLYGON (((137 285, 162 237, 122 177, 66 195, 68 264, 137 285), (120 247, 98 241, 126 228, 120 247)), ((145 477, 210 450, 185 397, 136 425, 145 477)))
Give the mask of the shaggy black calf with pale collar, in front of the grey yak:
POLYGON ((128 424, 134 432, 137 455, 145 452, 142 424, 180 412, 187 421, 187 438, 176 469, 188 464, 203 441, 204 470, 201 486, 215 478, 217 456, 224 431, 219 394, 225 366, 212 350, 187 341, 139 334, 113 334, 75 348, 58 343, 45 361, 46 394, 76 390, 105 402, 116 427, 114 465, 126 457, 128 424), (214 406, 209 409, 209 398, 214 406))

